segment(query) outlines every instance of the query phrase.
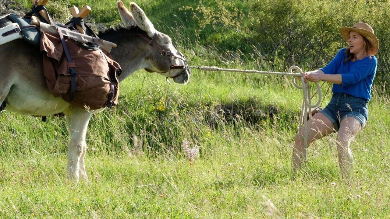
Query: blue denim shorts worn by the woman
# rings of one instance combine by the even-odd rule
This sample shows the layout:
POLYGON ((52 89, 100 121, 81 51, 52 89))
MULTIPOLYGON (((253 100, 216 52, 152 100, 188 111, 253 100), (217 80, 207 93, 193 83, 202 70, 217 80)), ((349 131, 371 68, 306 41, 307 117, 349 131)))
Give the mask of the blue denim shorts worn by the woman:
POLYGON ((346 117, 356 118, 363 128, 368 119, 367 103, 366 99, 344 93, 333 93, 328 105, 319 113, 324 114, 333 123, 336 131, 339 131, 340 122, 346 117))

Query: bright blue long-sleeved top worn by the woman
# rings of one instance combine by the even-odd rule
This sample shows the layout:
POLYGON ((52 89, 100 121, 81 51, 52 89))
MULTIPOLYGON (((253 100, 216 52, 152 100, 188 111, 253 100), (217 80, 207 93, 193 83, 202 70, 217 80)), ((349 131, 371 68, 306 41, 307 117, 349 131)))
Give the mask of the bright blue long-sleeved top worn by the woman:
POLYGON ((333 84, 333 93, 346 93, 369 101, 371 99, 371 85, 375 77, 378 60, 375 56, 349 60, 344 64, 346 48, 340 49, 332 62, 321 70, 325 74, 341 74, 342 84, 333 84))

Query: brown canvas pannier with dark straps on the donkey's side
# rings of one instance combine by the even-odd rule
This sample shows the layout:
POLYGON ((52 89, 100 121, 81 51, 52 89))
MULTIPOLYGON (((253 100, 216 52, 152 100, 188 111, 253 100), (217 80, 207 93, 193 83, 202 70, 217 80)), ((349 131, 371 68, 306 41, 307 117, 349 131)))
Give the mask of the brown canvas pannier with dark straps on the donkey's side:
POLYGON ((119 64, 95 44, 80 46, 79 42, 67 36, 63 38, 72 62, 68 62, 59 35, 41 31, 44 76, 53 96, 62 97, 85 109, 116 105, 119 94, 118 76, 122 72, 119 64), (74 69, 76 74, 73 100, 69 69, 74 69))

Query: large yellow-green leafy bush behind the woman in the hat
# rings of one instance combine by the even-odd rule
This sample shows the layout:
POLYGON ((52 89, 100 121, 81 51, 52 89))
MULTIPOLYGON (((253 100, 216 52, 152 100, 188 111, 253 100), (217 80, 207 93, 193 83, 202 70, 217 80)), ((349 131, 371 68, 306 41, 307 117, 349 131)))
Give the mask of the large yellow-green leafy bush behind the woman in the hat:
POLYGON ((339 34, 340 27, 360 21, 369 23, 380 43, 376 83, 380 81, 382 88, 390 84, 388 1, 246 0, 246 3, 248 8, 238 1, 234 2, 235 7, 232 2, 216 1, 214 7, 205 7, 200 2, 195 9, 184 9, 191 9, 198 20, 200 41, 210 41, 219 49, 241 49, 244 55, 257 53, 270 63, 273 71, 286 71, 291 65, 306 70, 323 67, 340 48, 347 46, 339 34), (213 27, 213 33, 208 26, 213 27), (243 44, 252 44, 253 50, 243 44))

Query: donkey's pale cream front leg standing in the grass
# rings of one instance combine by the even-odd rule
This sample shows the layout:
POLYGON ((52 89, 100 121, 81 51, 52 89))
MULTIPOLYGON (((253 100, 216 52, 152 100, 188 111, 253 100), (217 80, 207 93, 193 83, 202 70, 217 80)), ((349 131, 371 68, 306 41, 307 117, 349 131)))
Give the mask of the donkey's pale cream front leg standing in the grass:
POLYGON ((85 171, 84 157, 87 152, 85 135, 91 118, 91 112, 71 106, 64 112, 69 128, 70 140, 68 145, 67 177, 78 180, 88 179, 85 171))

